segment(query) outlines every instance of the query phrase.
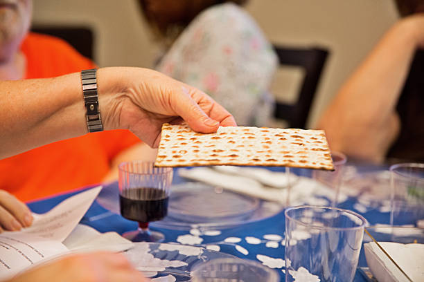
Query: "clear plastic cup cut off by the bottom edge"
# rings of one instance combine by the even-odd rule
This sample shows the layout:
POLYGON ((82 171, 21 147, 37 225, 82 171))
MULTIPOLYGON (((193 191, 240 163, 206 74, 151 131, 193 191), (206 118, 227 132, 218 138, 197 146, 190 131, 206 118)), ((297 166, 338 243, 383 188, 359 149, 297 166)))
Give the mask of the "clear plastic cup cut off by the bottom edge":
POLYGON ((257 261, 225 258, 201 263, 193 269, 193 282, 278 282, 280 276, 257 261))

